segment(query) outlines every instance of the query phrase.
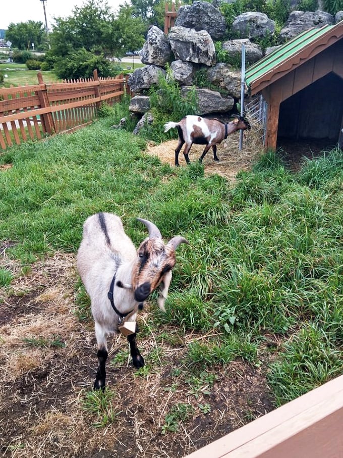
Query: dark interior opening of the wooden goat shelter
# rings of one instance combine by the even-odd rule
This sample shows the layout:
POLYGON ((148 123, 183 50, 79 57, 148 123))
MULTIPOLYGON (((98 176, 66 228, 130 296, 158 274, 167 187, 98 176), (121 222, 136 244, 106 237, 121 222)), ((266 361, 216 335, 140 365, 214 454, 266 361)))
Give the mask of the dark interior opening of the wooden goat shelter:
POLYGON ((327 146, 337 145, 342 123, 343 79, 331 72, 281 103, 278 143, 327 140, 327 146))

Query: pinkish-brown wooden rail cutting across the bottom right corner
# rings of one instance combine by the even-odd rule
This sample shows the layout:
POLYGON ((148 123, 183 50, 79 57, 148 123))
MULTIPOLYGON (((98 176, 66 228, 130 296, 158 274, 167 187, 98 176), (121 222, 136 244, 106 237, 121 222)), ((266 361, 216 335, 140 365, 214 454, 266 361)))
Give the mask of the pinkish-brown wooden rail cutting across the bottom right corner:
POLYGON ((340 458, 343 376, 187 455, 187 458, 340 458))

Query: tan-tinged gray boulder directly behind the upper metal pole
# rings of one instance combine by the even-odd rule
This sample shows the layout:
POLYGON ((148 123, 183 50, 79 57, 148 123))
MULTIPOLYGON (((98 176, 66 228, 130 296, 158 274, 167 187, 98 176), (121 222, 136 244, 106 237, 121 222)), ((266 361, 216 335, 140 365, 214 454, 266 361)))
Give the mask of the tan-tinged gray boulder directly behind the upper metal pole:
POLYGON ((232 97, 236 99, 241 97, 241 72, 232 70, 230 65, 220 62, 207 70, 207 78, 212 84, 225 89, 232 97))

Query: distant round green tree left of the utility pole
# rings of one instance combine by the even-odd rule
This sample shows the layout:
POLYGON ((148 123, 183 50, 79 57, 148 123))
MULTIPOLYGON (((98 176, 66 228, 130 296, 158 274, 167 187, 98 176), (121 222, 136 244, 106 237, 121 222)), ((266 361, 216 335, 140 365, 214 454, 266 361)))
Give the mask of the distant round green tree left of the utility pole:
POLYGON ((18 49, 32 49, 32 43, 35 49, 42 49, 47 42, 45 28, 40 21, 18 22, 18 24, 11 22, 6 32, 6 40, 12 41, 12 47, 18 49))

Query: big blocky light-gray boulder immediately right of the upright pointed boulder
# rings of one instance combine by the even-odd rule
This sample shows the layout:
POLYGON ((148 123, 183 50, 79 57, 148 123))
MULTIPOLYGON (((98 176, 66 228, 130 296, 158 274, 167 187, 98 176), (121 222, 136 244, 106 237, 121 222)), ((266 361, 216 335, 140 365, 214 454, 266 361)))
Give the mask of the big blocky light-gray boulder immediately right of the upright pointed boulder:
POLYGON ((215 64, 215 48, 206 30, 197 32, 185 27, 172 27, 168 41, 176 59, 211 66, 215 64))

